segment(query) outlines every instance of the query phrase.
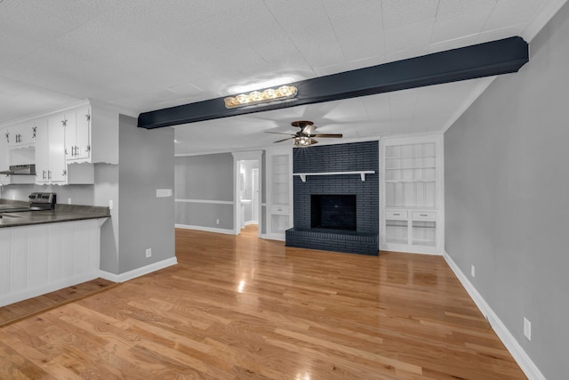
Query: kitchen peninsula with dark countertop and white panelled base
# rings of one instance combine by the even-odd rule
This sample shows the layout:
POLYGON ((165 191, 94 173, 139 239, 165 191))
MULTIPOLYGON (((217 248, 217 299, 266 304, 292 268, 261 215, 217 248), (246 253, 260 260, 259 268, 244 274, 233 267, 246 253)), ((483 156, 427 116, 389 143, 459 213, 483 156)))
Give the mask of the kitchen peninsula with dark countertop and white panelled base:
MULTIPOLYGON (((0 199, 0 205, 27 203, 0 199)), ((108 207, 55 205, 0 215, 0 306, 99 277, 108 207)))

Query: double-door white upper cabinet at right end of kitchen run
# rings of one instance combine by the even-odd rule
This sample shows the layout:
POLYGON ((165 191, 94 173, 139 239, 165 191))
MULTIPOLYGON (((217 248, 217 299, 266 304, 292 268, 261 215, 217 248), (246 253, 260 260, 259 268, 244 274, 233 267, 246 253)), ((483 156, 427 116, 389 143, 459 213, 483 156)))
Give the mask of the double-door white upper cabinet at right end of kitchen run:
POLYGON ((63 115, 65 156, 68 162, 91 162, 91 108, 86 106, 63 115))

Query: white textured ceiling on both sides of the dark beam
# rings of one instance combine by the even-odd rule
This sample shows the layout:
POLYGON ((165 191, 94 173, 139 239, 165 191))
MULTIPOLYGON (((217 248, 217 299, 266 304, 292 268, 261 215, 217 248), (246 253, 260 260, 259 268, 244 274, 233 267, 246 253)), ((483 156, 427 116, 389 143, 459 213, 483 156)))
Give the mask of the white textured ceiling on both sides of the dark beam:
MULTIPOLYGON (((0 123, 80 99, 126 114, 523 36, 565 0, 4 0, 0 123)), ((515 75, 515 74, 513 74, 515 75)), ((346 139, 441 131, 491 78, 176 127, 176 152, 267 146, 308 118, 346 139), (278 136, 276 136, 278 137, 278 136)), ((288 143, 288 142, 285 142, 288 143)))

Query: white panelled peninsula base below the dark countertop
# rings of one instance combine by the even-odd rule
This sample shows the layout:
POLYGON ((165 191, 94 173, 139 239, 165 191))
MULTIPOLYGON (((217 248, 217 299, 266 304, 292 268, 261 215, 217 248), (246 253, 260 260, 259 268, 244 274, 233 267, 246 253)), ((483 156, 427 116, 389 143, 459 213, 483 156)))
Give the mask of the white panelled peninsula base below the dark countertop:
POLYGON ((100 277, 101 224, 0 228, 0 307, 100 277))

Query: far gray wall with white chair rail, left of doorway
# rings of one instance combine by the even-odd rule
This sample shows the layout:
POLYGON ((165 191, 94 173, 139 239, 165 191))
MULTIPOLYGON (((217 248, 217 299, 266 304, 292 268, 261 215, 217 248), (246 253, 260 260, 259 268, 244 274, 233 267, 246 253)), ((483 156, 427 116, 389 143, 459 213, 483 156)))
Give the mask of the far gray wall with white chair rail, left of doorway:
MULTIPOLYGON (((176 199, 233 202, 233 155, 208 154, 175 158, 176 199)), ((233 230, 234 206, 215 203, 176 203, 178 224, 233 230), (217 224, 217 220, 220 224, 217 224)))

